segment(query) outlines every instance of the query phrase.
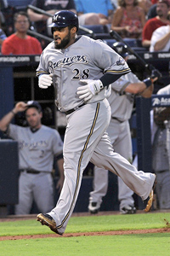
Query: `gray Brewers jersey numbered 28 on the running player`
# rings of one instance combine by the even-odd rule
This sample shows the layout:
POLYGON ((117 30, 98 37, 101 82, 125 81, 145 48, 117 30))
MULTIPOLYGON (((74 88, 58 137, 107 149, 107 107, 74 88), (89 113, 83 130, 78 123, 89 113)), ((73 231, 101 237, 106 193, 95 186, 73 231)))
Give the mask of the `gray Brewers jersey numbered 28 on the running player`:
MULTIPOLYGON (((123 74, 127 70, 127 63, 111 47, 100 40, 82 36, 66 49, 54 49, 54 42, 48 44, 42 52, 37 75, 54 73, 56 104, 65 112, 82 104, 77 96, 80 79, 95 80, 104 73, 123 74)), ((103 100, 106 90, 105 87, 89 102, 103 100)))

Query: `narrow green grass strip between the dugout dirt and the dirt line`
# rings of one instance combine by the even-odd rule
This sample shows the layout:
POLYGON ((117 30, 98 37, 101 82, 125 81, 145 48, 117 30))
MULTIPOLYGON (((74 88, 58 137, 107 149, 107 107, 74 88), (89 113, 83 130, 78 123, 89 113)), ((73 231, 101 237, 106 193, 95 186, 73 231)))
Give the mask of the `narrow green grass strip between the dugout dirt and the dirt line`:
MULTIPOLYGON (((94 232, 108 230, 158 229, 170 223, 170 213, 144 213, 133 215, 107 215, 71 217, 65 233, 94 232)), ((51 234, 36 219, 0 223, 0 236, 51 234)))

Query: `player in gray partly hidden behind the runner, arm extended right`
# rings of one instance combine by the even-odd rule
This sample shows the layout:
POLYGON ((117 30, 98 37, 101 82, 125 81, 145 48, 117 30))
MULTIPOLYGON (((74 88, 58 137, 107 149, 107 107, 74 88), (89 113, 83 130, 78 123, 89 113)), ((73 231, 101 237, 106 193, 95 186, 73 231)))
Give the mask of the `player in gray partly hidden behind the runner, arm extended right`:
MULTIPOLYGON (((127 61, 127 46, 122 43, 113 44, 113 49, 127 61)), ((132 163, 132 141, 129 119, 133 111, 135 94, 150 97, 153 84, 146 87, 133 73, 127 73, 111 85, 111 96, 108 101, 111 105, 111 122, 107 128, 111 144, 115 151, 132 163)), ((108 171, 94 166, 94 191, 90 192, 88 210, 91 213, 99 212, 102 197, 106 195, 108 188, 108 171)), ((129 189, 122 178, 118 177, 118 199, 120 212, 135 213, 133 190, 129 189)))

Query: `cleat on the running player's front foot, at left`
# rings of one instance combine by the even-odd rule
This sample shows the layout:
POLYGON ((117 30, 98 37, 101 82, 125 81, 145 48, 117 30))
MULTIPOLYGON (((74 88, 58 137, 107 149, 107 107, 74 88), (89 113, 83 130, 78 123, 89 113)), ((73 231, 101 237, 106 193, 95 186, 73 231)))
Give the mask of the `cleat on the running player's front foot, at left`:
POLYGON ((50 230, 54 231, 56 234, 59 234, 62 236, 61 233, 56 228, 56 223, 54 221, 54 218, 52 218, 49 214, 47 213, 39 213, 37 215, 37 221, 41 222, 42 225, 48 226, 50 230))

